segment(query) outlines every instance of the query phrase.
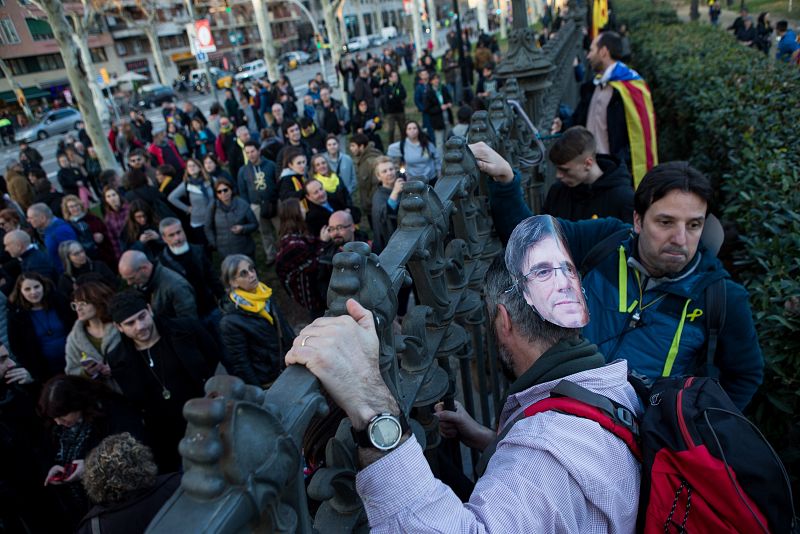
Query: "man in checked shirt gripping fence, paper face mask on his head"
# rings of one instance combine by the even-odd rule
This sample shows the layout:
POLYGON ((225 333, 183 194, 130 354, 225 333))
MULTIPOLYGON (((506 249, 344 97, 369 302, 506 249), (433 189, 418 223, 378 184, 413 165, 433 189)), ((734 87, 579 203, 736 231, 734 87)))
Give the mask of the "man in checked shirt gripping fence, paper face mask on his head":
MULTIPOLYGON (((526 267, 549 270, 550 285, 569 277, 580 295, 580 280, 570 274, 574 265, 554 231, 555 220, 540 216, 529 222, 538 239, 523 245, 526 267)), ((445 435, 457 434, 491 456, 467 505, 434 478, 383 382, 369 311, 349 300, 349 315, 317 319, 286 356, 287 364, 305 365, 314 373, 352 422, 361 468, 356 489, 373 532, 452 532, 454 525, 463 532, 634 532, 640 475, 628 445, 588 419, 557 411, 526 417, 524 412, 568 381, 613 399, 633 416, 640 408, 627 382, 627 365, 606 365, 580 328, 543 319, 525 296, 537 290, 543 274, 515 281, 504 263, 495 260, 485 281, 488 325, 499 363, 513 380, 499 435, 460 405, 455 412, 438 411, 445 435)), ((585 324, 585 306, 583 311, 575 314, 583 315, 580 324, 585 324)))

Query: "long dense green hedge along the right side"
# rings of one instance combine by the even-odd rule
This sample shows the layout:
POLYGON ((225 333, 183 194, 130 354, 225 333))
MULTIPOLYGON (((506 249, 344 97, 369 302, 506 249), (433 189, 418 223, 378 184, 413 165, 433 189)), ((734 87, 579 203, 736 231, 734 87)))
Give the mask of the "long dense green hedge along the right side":
POLYGON ((660 161, 707 173, 740 236, 732 270, 766 359, 750 415, 800 474, 800 73, 721 29, 675 24, 664 4, 614 6, 653 91, 660 161))

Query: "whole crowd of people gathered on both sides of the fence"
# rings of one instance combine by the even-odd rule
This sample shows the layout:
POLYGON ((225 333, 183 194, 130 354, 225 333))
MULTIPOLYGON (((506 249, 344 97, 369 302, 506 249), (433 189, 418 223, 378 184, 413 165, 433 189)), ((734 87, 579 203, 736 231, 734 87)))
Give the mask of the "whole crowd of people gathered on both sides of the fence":
MULTIPOLYGON (((377 338, 368 312, 351 302, 352 323, 321 318, 333 257, 353 241, 368 243, 378 254, 385 249, 397 228, 404 184, 434 185, 446 139, 463 135, 473 110, 502 87, 494 74, 497 54, 496 42, 480 36, 470 58, 474 90, 472 83, 456 86, 460 65, 452 50, 441 58, 422 51, 414 65, 405 52, 387 48, 381 57, 348 57, 337 66, 346 103, 334 98, 321 75, 308 81, 302 99, 282 76, 241 83, 208 110, 191 102, 164 103, 163 128, 132 111, 108 132, 121 174, 100 166, 82 128, 59 143, 54 181, 42 170, 36 148, 20 144, 0 199, 0 307, 7 310, 0 313, 0 443, 6 464, 13 464, 3 475, 3 526, 97 532, 102 524, 103 532, 140 532, 143 518, 152 517, 177 486, 178 477, 170 474, 181 469, 183 405, 203 396, 205 381, 215 373, 269 388, 287 363, 305 364, 344 410, 338 416, 346 412, 356 430, 369 422, 365 407, 397 415, 385 387, 362 387, 382 384, 380 376, 377 382, 368 376, 378 369, 369 365, 377 362, 377 338), (413 74, 413 93, 401 81, 403 66, 413 74), (421 120, 413 120, 409 109, 421 120), (265 283, 273 267, 278 287, 265 283), (297 325, 277 304, 278 291, 307 313, 304 322, 314 321, 297 335, 297 325), (337 329, 336 335, 323 334, 325 325, 337 329), (344 361, 353 347, 357 357, 344 361), (326 358, 335 363, 328 375, 312 365, 326 358)), ((713 253, 698 246, 711 201, 705 178, 689 167, 654 162, 644 177, 635 176, 636 140, 628 137, 626 124, 638 119, 623 112, 614 85, 615 76, 637 79, 620 61, 624 54, 623 39, 614 32, 592 41, 589 66, 608 86, 588 81, 582 105, 554 124, 560 136, 549 160, 559 183, 548 192, 544 212, 562 221, 566 257, 549 267, 519 260, 525 266, 516 271, 494 265, 487 275, 488 324, 497 330, 501 363, 512 381, 521 381, 512 390, 524 390, 524 398, 546 396, 550 381, 583 373, 586 387, 636 411, 632 392, 619 385, 627 368, 650 378, 690 372, 708 334, 702 321, 694 323, 695 311, 687 322, 688 306, 701 309, 705 287, 724 280, 730 311, 714 361, 723 386, 743 407, 763 366, 746 293, 713 253), (640 183, 635 195, 634 183, 640 183), (574 325, 554 326, 541 309, 535 313, 523 290, 508 291, 574 279, 579 262, 572 262, 569 250, 578 260, 591 244, 609 237, 615 240, 610 252, 584 276, 591 311, 588 325, 580 325, 584 337, 574 325), (618 269, 625 277, 617 277, 618 269), (609 304, 616 300, 619 310, 609 304), (546 358, 551 353, 558 354, 555 363, 546 358), (619 359, 627 364, 605 367, 619 359)), ((472 149, 481 170, 496 180, 495 224, 507 240, 531 215, 522 204, 519 177, 486 145, 472 149)), ((574 284, 569 288, 556 293, 575 292, 574 284)), ((401 294, 400 315, 410 293, 401 294)), ((513 419, 514 408, 504 408, 501 427, 513 419)), ((471 446, 484 449, 495 436, 478 428, 463 408, 439 416, 444 433, 471 446)), ((504 439, 552 433, 555 442, 569 440, 562 416, 548 417, 556 418, 558 430, 530 418, 504 439)), ((407 432, 406 440, 414 441, 407 432)), ((475 490, 483 503, 477 511, 457 512, 449 490, 426 477, 409 481, 417 484, 412 489, 399 480, 383 487, 380 473, 386 469, 427 469, 419 447, 410 445, 384 458, 385 453, 370 456, 367 444, 369 459, 362 457, 362 465, 370 467, 359 475, 359 492, 370 497, 364 499, 368 513, 384 518, 375 528, 392 530, 391 523, 448 530, 440 522, 452 521, 451 512, 485 524, 494 517, 500 525, 508 503, 488 485, 504 484, 502 474, 492 474, 505 458, 538 473, 524 484, 531 496, 565 481, 547 499, 532 499, 526 514, 543 511, 549 518, 539 527, 632 530, 638 470, 624 447, 604 438, 599 449, 587 452, 570 441, 574 449, 562 450, 577 455, 578 465, 592 464, 575 473, 559 463, 555 451, 528 462, 527 447, 547 450, 542 440, 497 449, 475 490), (619 469, 594 465, 607 454, 621 458, 619 469), (624 497, 623 507, 613 508, 617 497, 590 495, 620 477, 630 479, 617 496, 624 497), (387 497, 392 492, 416 501, 387 497), (404 508, 395 509, 400 502, 404 508), (572 502, 574 515, 556 513, 564 502, 572 502)), ((308 460, 307 472, 320 462, 308 460)), ((520 514, 519 531, 534 530, 526 514, 520 514)))

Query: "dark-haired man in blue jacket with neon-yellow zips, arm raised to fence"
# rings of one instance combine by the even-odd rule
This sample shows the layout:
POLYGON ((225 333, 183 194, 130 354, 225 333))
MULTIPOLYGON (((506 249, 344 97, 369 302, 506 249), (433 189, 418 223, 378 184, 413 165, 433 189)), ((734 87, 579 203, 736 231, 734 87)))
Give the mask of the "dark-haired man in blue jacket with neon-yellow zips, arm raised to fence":
MULTIPOLYGON (((519 177, 487 145, 471 146, 494 177, 492 213, 501 239, 531 215, 519 177)), ((591 321, 584 329, 608 361, 658 377, 719 378, 739 409, 761 384, 764 358, 747 291, 700 238, 711 184, 685 162, 659 165, 634 196, 633 227, 617 219, 561 221, 583 273, 591 321)))

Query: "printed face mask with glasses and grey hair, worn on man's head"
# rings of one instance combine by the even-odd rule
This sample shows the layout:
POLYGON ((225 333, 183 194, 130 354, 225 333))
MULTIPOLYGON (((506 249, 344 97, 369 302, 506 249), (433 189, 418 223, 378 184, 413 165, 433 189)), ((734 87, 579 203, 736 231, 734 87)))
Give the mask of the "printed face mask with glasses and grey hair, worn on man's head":
POLYGON ((581 278, 558 221, 549 215, 522 221, 508 240, 505 259, 516 280, 513 289, 542 319, 564 328, 586 326, 581 278))

